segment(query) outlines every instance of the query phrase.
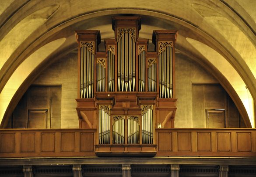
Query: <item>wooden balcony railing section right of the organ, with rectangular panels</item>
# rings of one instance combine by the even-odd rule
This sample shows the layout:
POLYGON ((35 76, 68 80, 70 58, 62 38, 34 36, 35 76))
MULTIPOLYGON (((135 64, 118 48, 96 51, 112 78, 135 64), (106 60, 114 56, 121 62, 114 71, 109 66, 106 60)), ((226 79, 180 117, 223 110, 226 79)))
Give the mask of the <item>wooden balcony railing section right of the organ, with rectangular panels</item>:
POLYGON ((256 157, 256 129, 156 129, 156 156, 256 157))

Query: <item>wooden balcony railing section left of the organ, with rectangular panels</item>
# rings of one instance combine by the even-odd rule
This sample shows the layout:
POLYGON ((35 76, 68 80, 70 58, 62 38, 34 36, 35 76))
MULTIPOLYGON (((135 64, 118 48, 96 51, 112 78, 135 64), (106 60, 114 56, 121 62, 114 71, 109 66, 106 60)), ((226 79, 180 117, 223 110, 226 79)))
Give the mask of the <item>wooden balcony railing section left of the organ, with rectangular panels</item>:
POLYGON ((95 156, 96 129, 0 129, 0 157, 95 156))

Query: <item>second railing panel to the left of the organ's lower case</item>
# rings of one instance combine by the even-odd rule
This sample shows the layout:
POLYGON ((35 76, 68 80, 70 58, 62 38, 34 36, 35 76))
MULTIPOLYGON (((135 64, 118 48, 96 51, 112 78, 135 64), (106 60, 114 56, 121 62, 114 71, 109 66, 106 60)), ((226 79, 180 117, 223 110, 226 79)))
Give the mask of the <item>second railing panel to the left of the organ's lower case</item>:
POLYGON ((61 152, 74 151, 75 133, 61 133, 61 152))

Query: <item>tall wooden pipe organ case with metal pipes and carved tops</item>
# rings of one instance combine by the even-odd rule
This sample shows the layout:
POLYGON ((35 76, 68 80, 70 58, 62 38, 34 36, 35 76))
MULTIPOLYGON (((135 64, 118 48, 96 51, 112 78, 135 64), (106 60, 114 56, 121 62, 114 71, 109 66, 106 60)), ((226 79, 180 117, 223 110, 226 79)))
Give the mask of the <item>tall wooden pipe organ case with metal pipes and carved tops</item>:
POLYGON ((96 129, 97 156, 150 156, 156 129, 174 127, 177 31, 153 31, 155 51, 140 39, 140 17, 113 17, 114 39, 98 52, 100 31, 76 31, 77 114, 82 129, 96 129))

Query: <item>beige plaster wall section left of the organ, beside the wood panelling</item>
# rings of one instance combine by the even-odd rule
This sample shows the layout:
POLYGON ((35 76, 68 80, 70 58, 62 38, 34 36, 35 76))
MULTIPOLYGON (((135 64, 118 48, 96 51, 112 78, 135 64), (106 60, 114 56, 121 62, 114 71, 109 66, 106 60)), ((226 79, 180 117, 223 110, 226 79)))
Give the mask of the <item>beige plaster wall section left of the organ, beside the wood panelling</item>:
POLYGON ((42 71, 33 85, 61 85, 61 128, 78 128, 77 53, 70 53, 42 71))

